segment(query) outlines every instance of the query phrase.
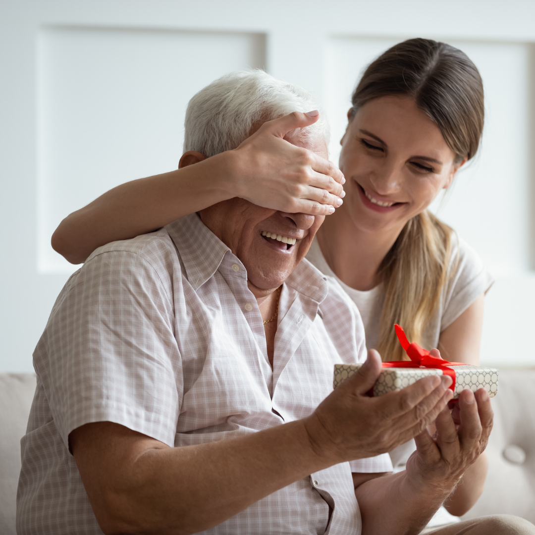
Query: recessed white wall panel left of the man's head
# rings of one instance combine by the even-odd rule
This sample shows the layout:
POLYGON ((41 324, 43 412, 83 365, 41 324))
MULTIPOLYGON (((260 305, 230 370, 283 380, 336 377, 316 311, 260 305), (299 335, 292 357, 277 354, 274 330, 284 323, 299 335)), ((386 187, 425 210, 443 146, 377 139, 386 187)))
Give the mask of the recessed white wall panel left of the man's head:
POLYGON ((55 27, 37 43, 37 267, 68 273, 50 247, 59 222, 121 182, 176 169, 189 99, 264 67, 265 37, 55 27))

